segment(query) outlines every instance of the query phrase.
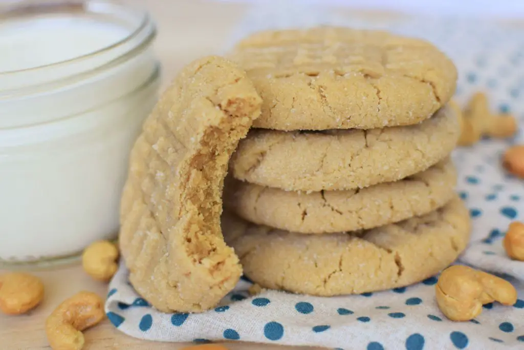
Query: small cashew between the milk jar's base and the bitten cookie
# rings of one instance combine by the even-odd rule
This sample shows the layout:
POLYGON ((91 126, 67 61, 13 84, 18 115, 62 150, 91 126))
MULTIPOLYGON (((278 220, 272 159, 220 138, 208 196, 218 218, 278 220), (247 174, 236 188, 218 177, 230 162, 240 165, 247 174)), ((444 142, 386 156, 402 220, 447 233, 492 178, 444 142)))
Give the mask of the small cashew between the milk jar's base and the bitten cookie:
POLYGON ((109 241, 96 241, 84 250, 82 266, 92 278, 108 281, 118 269, 118 249, 109 241))

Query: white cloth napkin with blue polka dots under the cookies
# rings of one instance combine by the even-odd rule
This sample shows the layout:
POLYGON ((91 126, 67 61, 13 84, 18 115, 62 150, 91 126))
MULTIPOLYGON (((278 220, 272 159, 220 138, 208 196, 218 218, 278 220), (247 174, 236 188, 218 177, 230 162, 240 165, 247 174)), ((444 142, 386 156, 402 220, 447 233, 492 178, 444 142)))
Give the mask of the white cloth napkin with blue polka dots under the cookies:
MULTIPOLYGON (((379 28, 429 39, 460 72, 456 100, 488 93, 494 111, 512 112, 524 125, 524 33, 459 18, 419 17, 369 22, 291 1, 255 7, 231 38, 260 29, 333 24, 379 28)), ((487 304, 475 320, 452 322, 438 309, 438 276, 407 288, 321 298, 278 291, 247 293, 242 279, 214 310, 164 314, 151 308, 128 283, 122 264, 110 283, 105 310, 118 330, 165 342, 244 342, 323 346, 336 349, 524 349, 524 262, 510 260, 501 245, 508 224, 524 219, 524 181, 507 175, 500 156, 524 143, 522 128, 512 140, 483 140, 454 151, 457 191, 470 208, 473 232, 459 262, 495 272, 518 291, 513 306, 487 304)))

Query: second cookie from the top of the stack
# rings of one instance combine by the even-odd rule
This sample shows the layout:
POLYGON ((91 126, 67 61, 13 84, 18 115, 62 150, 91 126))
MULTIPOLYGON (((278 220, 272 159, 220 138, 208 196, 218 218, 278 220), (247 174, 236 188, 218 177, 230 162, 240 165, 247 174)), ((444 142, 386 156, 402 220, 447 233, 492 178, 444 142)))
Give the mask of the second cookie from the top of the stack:
POLYGON ((238 144, 231 172, 239 180, 285 190, 320 191, 397 181, 443 160, 460 128, 443 107, 417 125, 371 130, 284 132, 255 129, 238 144))

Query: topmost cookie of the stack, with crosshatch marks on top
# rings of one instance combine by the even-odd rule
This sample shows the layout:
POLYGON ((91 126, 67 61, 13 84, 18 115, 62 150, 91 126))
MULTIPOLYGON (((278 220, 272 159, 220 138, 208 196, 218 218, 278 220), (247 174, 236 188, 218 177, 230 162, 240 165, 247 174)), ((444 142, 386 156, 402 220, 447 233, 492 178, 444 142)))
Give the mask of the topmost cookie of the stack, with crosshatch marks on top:
POLYGON ((427 41, 384 31, 265 31, 230 56, 263 99, 256 128, 375 129, 416 124, 456 88, 453 62, 427 41))

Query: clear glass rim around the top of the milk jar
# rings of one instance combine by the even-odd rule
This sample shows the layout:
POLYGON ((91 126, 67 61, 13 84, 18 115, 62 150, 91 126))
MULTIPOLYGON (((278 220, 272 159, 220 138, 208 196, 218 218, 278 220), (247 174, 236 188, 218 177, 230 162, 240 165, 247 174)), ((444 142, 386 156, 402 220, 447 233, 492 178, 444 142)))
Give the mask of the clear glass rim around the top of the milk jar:
POLYGON ((82 60, 93 58, 93 57, 96 57, 97 55, 101 55, 105 52, 115 50, 117 48, 122 47, 123 45, 129 43, 131 40, 136 38, 142 31, 148 29, 148 27, 149 27, 149 33, 143 40, 140 41, 139 45, 130 47, 127 51, 124 52, 124 54, 119 55, 116 59, 108 61, 99 67, 96 67, 91 70, 82 71, 75 75, 67 76, 64 78, 59 78, 57 80, 51 80, 49 82, 44 82, 42 84, 30 86, 29 88, 0 90, 0 100, 13 98, 13 97, 16 97, 22 94, 27 95, 27 94, 44 92, 50 89, 62 88, 70 84, 74 84, 75 82, 79 82, 82 79, 84 79, 85 77, 89 77, 89 76, 92 76, 93 74, 110 69, 120 64, 121 62, 126 61, 130 57, 133 57, 136 52, 139 52, 149 47, 149 45, 152 43, 152 41, 155 39, 157 35, 156 25, 154 21, 152 20, 151 16, 149 15, 149 13, 146 10, 139 9, 137 7, 130 7, 124 4, 119 4, 117 2, 111 2, 107 0, 71 0, 71 1, 56 0, 56 1, 45 2, 45 3, 35 2, 35 1, 37 0, 20 0, 20 1, 16 1, 13 5, 7 5, 6 9, 0 9, 0 20, 2 18, 13 18, 13 16, 22 17, 22 16, 30 16, 30 15, 57 14, 57 13, 116 14, 118 10, 120 10, 121 13, 125 10, 128 10, 128 11, 131 10, 135 12, 135 14, 139 14, 140 19, 139 19, 139 24, 134 29, 130 30, 129 34, 127 34, 124 38, 116 41, 116 43, 113 43, 111 45, 108 45, 100 49, 97 49, 95 51, 89 52, 88 54, 73 57, 71 59, 52 62, 46 65, 41 65, 37 67, 30 67, 30 68, 10 70, 10 71, 0 71, 0 79, 6 76, 13 76, 19 73, 33 72, 33 71, 45 70, 45 69, 54 68, 54 67, 60 67, 63 65, 67 65, 68 63, 80 62, 82 60), (105 8, 106 11, 105 12, 94 12, 92 9, 93 7, 96 8, 97 5, 99 7, 105 8))

